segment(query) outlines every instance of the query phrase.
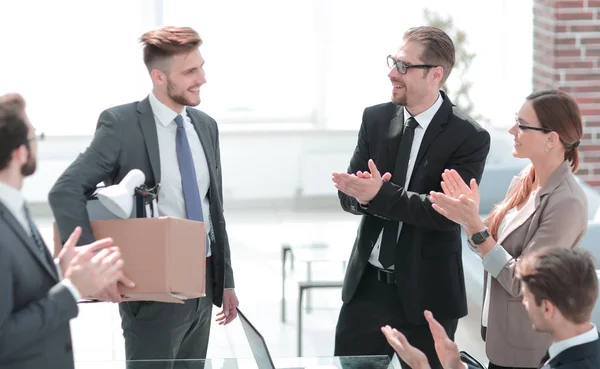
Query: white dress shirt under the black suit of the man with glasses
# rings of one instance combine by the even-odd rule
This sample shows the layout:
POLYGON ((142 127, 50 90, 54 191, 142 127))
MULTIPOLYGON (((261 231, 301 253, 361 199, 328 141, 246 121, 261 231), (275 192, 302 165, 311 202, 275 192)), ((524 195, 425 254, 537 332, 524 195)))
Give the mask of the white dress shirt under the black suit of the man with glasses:
MULTIPOLYGON (((413 137, 412 146, 410 148, 410 156, 408 157, 408 172, 406 173, 406 181, 404 182, 404 186, 408 186, 410 183, 410 177, 412 176, 413 168, 415 167, 415 161, 417 160, 417 154, 419 153, 419 148, 421 147, 421 142, 423 141, 423 136, 425 136, 425 131, 427 131, 427 127, 431 123, 431 120, 435 116, 435 113, 440 109, 444 99, 442 95, 438 95, 437 100, 431 105, 427 110, 422 112, 421 114, 415 115, 414 118, 419 123, 419 125, 415 128, 415 135, 413 137)), ((412 116, 406 108, 402 108, 404 110, 404 124, 406 125, 406 121, 412 116)), ((441 173, 440 173, 441 175, 441 173)), ((402 231, 402 222, 398 226, 398 236, 400 236, 400 232, 402 231)), ((379 237, 375 242, 375 246, 373 246, 373 251, 371 251, 371 256, 369 256, 369 263, 374 266, 383 269, 383 265, 379 262, 379 250, 381 250, 381 238, 383 236, 383 230, 379 233, 379 237)), ((389 269, 394 269, 392 265, 389 269)))

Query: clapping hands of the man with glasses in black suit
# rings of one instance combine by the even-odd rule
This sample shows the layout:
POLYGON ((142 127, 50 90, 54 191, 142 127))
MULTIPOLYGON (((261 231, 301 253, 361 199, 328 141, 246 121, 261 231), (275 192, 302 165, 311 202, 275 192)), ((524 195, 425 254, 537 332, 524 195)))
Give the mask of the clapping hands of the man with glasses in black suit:
POLYGON ((372 159, 369 159, 369 171, 356 174, 333 172, 331 179, 335 183, 335 188, 366 205, 377 195, 383 181, 389 181, 392 178, 390 173, 382 176, 372 159))

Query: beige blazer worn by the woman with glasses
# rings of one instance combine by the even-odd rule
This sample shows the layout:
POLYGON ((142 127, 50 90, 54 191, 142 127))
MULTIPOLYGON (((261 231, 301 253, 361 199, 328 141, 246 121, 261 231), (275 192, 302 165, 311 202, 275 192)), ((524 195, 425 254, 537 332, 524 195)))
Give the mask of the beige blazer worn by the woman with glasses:
MULTIPOLYGON (((522 173, 527 173, 526 168, 522 173)), ((517 177, 515 177, 517 178, 517 177)), ((516 183, 513 180, 513 184, 516 183)), ((512 190, 513 185, 511 185, 512 190)), ((533 330, 521 303, 521 283, 515 278, 519 257, 540 247, 574 248, 587 231, 587 197, 565 161, 546 184, 506 225, 498 245, 483 258, 487 278, 492 276, 486 353, 501 366, 539 366, 550 346, 550 335, 533 330)))

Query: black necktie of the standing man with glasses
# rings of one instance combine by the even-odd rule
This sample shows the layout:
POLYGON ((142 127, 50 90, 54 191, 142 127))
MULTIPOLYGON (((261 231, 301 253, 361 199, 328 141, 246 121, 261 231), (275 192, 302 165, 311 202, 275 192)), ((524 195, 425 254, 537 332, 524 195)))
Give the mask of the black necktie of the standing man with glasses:
MULTIPOLYGON (((415 118, 410 117, 406 121, 404 133, 398 148, 398 171, 392 174, 392 180, 399 186, 404 187, 406 176, 408 175, 408 158, 410 157, 410 149, 412 147, 413 138, 415 137, 415 128, 419 123, 415 118)), ((381 239, 381 249, 379 250, 379 262, 384 268, 389 268, 394 265, 394 251, 398 242, 398 227, 399 224, 395 220, 387 220, 383 225, 383 237, 381 239)))

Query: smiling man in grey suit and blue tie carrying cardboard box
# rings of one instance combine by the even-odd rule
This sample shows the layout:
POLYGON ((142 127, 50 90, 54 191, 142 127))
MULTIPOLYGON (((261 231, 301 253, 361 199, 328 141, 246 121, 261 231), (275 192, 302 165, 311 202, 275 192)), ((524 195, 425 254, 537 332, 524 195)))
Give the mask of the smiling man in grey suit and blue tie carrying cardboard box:
MULTIPOLYGON (((81 226, 82 241, 92 241, 88 195, 99 182, 120 183, 139 169, 147 186, 160 184, 160 216, 204 222, 206 237, 194 241, 198 247, 207 246, 206 297, 186 299, 184 304, 121 302, 117 286, 97 296, 121 302, 127 360, 202 359, 212 304, 223 306, 217 315, 220 324, 237 316, 238 305, 223 217, 217 123, 191 108, 200 103, 200 87, 206 82, 202 40, 191 28, 165 27, 142 35, 141 42, 152 92, 142 101, 100 115, 92 143, 58 179, 49 200, 61 238, 68 229, 81 226)), ((136 261, 142 264, 144 258, 155 257, 144 253, 144 246, 139 245, 136 261)))

